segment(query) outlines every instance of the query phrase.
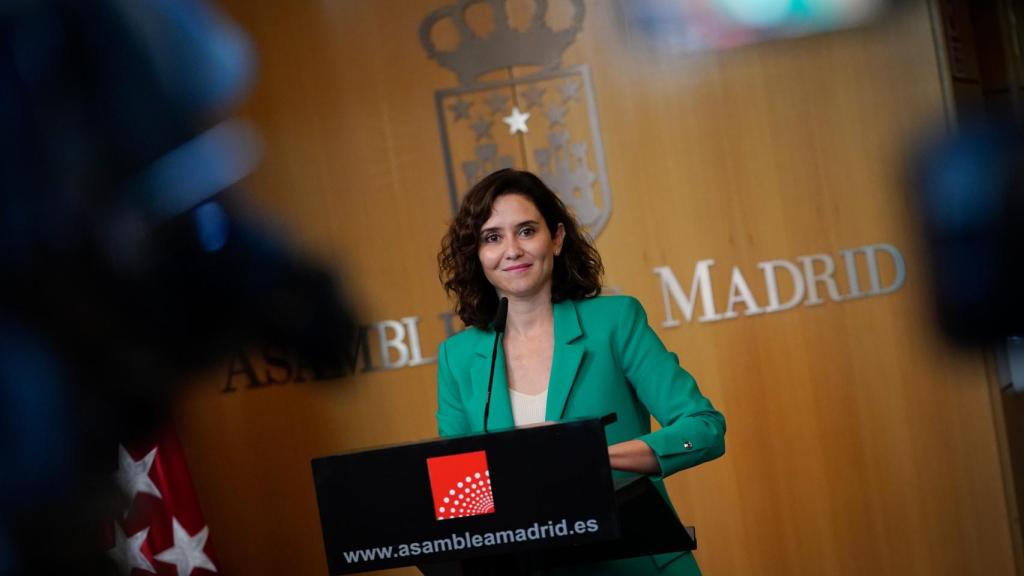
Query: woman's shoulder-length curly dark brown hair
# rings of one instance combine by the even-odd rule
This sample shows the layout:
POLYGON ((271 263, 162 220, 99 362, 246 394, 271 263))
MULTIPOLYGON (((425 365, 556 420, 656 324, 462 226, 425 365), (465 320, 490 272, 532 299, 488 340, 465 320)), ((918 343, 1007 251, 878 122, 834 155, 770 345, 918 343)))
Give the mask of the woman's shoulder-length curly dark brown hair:
POLYGON ((529 199, 552 237, 559 223, 565 229, 562 250, 552 271, 551 301, 592 298, 601 293, 601 255, 575 217, 541 178, 506 168, 488 174, 466 194, 437 253, 441 284, 450 296, 455 296, 455 312, 466 326, 486 328, 498 310, 498 293, 483 275, 477 251, 480 229, 490 217, 495 200, 506 194, 529 199))

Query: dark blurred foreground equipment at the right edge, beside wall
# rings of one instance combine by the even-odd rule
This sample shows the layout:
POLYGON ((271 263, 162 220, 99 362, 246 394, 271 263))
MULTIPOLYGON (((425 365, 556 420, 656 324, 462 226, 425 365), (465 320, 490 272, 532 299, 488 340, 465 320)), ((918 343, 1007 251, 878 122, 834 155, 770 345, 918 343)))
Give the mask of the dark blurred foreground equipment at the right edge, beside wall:
POLYGON ((918 165, 939 322, 954 339, 1024 335, 1024 129, 965 122, 918 165))

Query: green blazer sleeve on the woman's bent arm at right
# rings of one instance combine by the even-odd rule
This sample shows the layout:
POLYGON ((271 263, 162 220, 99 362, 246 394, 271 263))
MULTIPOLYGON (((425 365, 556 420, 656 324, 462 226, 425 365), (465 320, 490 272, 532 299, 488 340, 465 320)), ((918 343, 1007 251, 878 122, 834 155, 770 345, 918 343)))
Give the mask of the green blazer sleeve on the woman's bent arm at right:
POLYGON ((725 417, 665 347, 640 302, 632 297, 627 301, 620 324, 625 335, 623 369, 640 402, 662 424, 639 440, 654 452, 662 477, 718 458, 725 453, 725 417))

